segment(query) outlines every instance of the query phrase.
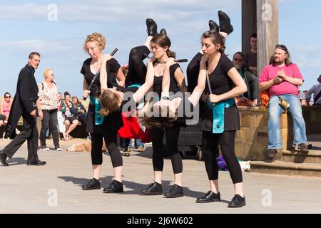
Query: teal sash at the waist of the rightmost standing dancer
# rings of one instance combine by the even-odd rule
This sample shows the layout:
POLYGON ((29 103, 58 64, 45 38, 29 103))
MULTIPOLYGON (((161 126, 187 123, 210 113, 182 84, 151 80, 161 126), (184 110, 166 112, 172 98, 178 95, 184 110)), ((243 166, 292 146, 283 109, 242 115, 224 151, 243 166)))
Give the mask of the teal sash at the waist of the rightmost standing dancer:
MULTIPOLYGON (((210 103, 207 100, 206 103, 210 103)), ((210 103, 213 105, 212 103, 210 103)), ((227 100, 222 100, 218 103, 215 103, 213 107, 213 133, 214 134, 222 134, 224 132, 224 113, 225 108, 235 105, 234 98, 230 98, 227 100)))

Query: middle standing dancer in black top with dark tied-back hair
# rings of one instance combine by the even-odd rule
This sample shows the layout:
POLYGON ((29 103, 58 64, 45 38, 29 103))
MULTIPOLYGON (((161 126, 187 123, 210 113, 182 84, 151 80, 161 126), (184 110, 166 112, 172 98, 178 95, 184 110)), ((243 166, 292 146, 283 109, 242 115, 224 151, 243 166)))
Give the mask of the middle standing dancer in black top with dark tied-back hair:
MULTIPOLYGON (((155 100, 161 100, 163 96, 161 85, 164 76, 170 78, 169 91, 176 93, 180 90, 185 92, 185 81, 183 71, 178 63, 175 63, 175 53, 169 50, 170 39, 165 34, 159 34, 151 40, 151 51, 155 61, 151 59, 148 66, 151 66, 154 71, 153 75, 153 92, 156 93, 155 100)), ((148 79, 146 78, 146 81, 148 79)), ((146 105, 146 107, 148 107, 146 105)), ((182 197, 182 175, 183 162, 180 153, 178 152, 178 135, 180 133, 180 123, 174 123, 168 128, 151 128, 151 138, 153 144, 153 170, 155 182, 148 188, 141 190, 143 195, 161 195, 163 194, 162 173, 163 173, 163 136, 166 135, 166 145, 172 161, 174 172, 174 186, 170 192, 165 192, 165 197, 182 197)))

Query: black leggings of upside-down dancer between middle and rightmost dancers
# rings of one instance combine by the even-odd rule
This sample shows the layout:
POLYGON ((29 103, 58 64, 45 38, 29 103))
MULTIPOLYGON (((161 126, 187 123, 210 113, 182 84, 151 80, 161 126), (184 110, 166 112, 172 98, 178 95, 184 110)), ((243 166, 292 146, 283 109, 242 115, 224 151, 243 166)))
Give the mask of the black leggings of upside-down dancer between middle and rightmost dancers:
POLYGON ((188 92, 192 93, 195 86, 198 84, 198 73, 200 73, 200 59, 202 58, 201 53, 197 53, 194 58, 188 64, 186 69, 186 76, 188 78, 188 92))

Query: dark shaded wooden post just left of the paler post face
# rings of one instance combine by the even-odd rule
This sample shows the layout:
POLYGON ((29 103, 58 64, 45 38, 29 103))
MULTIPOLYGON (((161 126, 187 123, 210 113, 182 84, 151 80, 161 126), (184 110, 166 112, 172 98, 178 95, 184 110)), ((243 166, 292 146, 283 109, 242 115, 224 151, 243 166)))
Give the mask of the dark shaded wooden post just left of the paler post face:
POLYGON ((250 36, 257 31, 257 0, 242 0, 242 52, 251 50, 250 36))

